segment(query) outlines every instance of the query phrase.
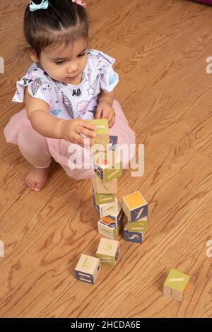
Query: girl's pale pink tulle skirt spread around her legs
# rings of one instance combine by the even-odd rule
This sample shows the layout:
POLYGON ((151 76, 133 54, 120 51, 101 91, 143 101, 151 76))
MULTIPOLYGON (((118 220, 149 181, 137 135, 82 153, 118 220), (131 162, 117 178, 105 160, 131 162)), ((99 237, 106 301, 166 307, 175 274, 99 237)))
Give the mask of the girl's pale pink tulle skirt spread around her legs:
MULTIPOLYGON (((117 100, 114 100, 113 108, 116 113, 116 119, 114 126, 110 128, 110 135, 118 136, 119 146, 122 146, 122 144, 125 147, 134 145, 136 143, 135 133, 129 127, 128 121, 126 120, 124 112, 122 111, 122 108, 117 100)), ((22 109, 20 112, 11 117, 8 124, 6 124, 6 127, 4 128, 6 142, 13 143, 18 146, 18 135, 21 129, 25 126, 32 127, 28 119, 26 109, 22 109)), ((81 148, 81 146, 65 141, 64 139, 48 137, 45 137, 45 139, 49 154, 61 165, 61 167, 64 168, 69 177, 74 179, 88 179, 95 177, 93 167, 90 167, 91 156, 90 151, 87 148, 81 148), (81 167, 82 156, 83 168, 81 167), (74 164, 77 165, 77 167, 74 167, 74 164)), ((125 155, 122 155, 121 158, 123 168, 128 168, 127 165, 130 160, 134 158, 134 156, 131 155, 131 153, 126 153, 125 155)))

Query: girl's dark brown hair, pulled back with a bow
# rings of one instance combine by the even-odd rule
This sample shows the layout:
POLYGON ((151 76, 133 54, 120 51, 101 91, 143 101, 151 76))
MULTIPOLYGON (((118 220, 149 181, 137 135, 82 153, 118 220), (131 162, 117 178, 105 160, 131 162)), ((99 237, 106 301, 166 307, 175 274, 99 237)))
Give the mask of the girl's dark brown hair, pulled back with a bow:
MULTIPOLYGON (((40 4, 41 0, 34 0, 40 4)), ((78 38, 89 40, 88 16, 85 8, 71 0, 49 0, 47 9, 30 11, 24 15, 24 35, 28 45, 23 52, 34 50, 40 59, 42 49, 50 45, 69 45, 78 38)))

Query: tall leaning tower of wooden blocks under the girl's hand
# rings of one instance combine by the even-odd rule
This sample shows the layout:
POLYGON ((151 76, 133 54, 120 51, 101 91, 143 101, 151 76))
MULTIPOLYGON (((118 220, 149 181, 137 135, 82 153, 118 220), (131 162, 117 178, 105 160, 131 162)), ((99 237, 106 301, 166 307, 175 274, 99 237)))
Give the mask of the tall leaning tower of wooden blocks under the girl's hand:
POLYGON ((93 204, 100 215, 100 234, 116 239, 121 230, 124 211, 117 200, 117 182, 122 175, 122 161, 117 153, 117 136, 109 136, 107 119, 90 120, 97 130, 95 144, 98 153, 94 156, 96 177, 92 179, 93 204), (107 145, 110 146, 107 150, 107 145), (107 152, 106 152, 107 151, 107 152))

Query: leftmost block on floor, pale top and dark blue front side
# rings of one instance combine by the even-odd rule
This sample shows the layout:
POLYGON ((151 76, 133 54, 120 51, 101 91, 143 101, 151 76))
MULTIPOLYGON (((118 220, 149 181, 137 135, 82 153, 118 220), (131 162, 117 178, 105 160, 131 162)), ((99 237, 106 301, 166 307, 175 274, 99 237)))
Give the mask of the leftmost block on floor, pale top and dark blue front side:
POLYGON ((76 279, 84 283, 95 284, 100 273, 100 259, 87 255, 81 255, 75 268, 76 279))

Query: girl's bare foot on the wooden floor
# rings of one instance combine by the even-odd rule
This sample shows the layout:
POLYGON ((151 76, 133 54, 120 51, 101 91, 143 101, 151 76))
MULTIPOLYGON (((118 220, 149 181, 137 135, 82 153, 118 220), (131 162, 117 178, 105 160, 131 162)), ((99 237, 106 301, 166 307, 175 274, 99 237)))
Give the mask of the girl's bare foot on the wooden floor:
POLYGON ((33 166, 25 178, 26 186, 32 190, 40 191, 45 186, 49 170, 50 166, 47 168, 37 168, 33 166))

